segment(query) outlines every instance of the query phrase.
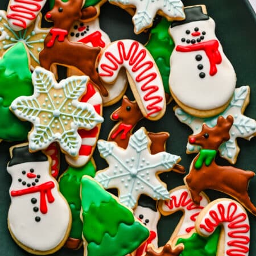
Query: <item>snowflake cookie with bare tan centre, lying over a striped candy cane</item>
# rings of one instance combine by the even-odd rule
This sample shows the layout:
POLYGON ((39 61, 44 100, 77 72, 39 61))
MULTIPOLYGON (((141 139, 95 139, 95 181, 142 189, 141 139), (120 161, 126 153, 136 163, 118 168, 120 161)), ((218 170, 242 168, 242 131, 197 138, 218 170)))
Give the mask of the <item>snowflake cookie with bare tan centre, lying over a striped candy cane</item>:
POLYGON ((76 157, 81 146, 77 129, 93 129, 103 118, 91 104, 79 102, 88 76, 72 76, 57 84, 53 73, 36 67, 32 74, 34 94, 16 98, 10 106, 17 117, 30 121, 29 148, 38 151, 59 142, 63 152, 76 157))

